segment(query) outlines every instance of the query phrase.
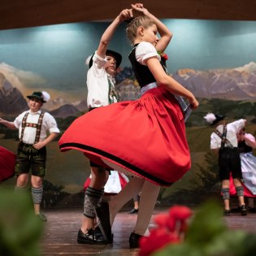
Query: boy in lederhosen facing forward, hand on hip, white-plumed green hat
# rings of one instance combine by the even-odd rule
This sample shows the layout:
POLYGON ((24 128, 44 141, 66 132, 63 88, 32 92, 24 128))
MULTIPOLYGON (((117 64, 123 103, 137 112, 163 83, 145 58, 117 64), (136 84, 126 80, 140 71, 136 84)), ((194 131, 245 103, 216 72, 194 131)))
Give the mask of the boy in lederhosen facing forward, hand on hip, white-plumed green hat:
POLYGON ((17 177, 15 192, 27 191, 29 171, 31 169, 31 184, 34 211, 38 217, 46 221, 46 216, 40 212, 43 194, 43 179, 46 175, 46 145, 59 134, 59 128, 52 115, 41 111, 44 102, 50 99, 46 92, 34 92, 27 96, 29 110, 24 111, 14 122, 0 118, 0 124, 7 128, 19 129, 20 143, 15 163, 17 177), (46 132, 49 132, 49 136, 46 132))

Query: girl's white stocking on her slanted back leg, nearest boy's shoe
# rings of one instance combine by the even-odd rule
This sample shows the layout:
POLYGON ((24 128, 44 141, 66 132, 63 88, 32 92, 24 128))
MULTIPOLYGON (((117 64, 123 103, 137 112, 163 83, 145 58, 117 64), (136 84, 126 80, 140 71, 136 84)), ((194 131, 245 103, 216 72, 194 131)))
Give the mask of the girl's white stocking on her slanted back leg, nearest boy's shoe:
POLYGON ((137 177, 133 177, 128 184, 122 189, 115 197, 109 201, 111 225, 114 222, 115 215, 119 210, 132 199, 135 195, 141 192, 142 186, 145 180, 137 177))

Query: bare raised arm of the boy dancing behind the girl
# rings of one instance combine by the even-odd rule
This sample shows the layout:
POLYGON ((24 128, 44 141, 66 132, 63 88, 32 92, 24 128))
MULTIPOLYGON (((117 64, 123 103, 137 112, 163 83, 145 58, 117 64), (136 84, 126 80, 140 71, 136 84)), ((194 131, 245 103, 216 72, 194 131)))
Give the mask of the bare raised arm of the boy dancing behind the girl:
POLYGON ((113 22, 106 28, 105 32, 102 34, 101 41, 98 45, 97 54, 102 58, 105 58, 106 49, 113 37, 116 28, 118 28, 119 24, 121 24, 124 20, 130 20, 132 18, 132 9, 124 9, 119 13, 119 15, 113 20, 113 22))

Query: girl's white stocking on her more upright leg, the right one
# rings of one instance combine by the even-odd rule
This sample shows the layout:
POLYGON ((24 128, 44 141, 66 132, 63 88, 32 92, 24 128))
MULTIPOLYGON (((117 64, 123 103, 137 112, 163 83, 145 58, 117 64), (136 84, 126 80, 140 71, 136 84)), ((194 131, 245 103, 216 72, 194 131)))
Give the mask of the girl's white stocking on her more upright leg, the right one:
POLYGON ((134 232, 143 236, 149 227, 150 219, 158 199, 160 186, 145 180, 141 190, 140 207, 137 215, 137 223, 134 232))

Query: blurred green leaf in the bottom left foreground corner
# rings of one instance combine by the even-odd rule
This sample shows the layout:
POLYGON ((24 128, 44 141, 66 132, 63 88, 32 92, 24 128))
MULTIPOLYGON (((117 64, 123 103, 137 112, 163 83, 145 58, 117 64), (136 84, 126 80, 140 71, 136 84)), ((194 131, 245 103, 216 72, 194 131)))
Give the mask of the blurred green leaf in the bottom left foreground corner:
POLYGON ((31 196, 1 190, 0 255, 39 256, 43 223, 35 216, 31 196))

